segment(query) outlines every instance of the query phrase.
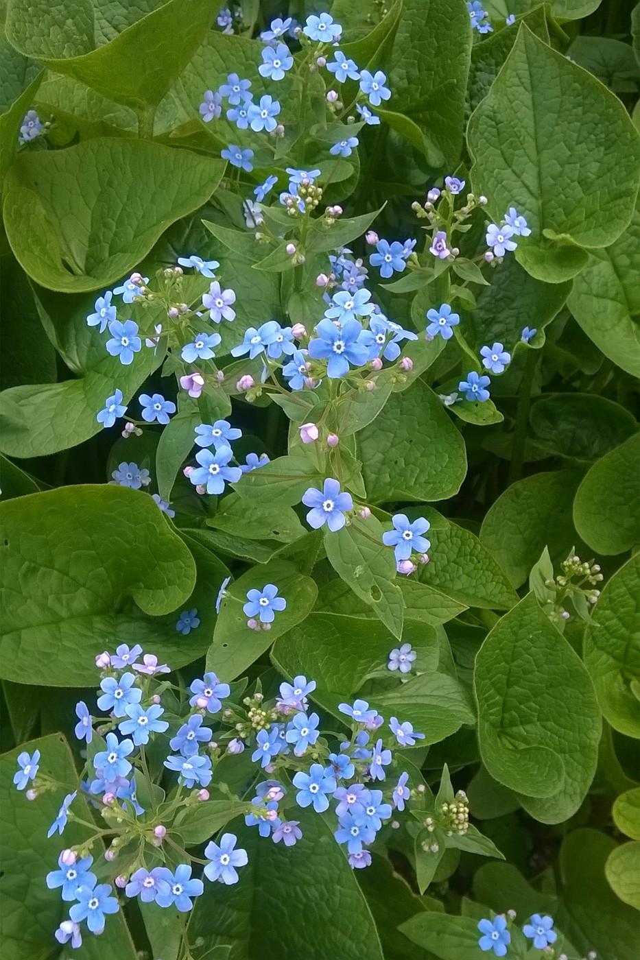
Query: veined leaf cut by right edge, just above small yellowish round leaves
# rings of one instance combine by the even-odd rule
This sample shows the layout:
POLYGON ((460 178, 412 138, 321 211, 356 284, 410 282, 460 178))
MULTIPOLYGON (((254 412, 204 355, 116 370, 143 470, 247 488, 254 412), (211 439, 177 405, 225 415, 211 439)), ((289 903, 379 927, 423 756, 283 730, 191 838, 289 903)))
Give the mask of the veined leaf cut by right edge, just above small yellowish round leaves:
POLYGON ((605 585, 584 636, 584 665, 598 703, 614 730, 640 739, 640 555, 632 557, 605 585))

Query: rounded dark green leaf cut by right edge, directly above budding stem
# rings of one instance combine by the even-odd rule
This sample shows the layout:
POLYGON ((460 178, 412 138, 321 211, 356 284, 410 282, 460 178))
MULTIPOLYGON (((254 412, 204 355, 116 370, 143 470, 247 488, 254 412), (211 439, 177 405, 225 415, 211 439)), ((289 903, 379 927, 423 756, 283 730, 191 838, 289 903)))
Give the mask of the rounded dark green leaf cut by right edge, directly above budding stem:
POLYGON ((585 543, 603 554, 617 554, 638 542, 640 438, 636 434, 589 469, 574 501, 574 523, 585 543))

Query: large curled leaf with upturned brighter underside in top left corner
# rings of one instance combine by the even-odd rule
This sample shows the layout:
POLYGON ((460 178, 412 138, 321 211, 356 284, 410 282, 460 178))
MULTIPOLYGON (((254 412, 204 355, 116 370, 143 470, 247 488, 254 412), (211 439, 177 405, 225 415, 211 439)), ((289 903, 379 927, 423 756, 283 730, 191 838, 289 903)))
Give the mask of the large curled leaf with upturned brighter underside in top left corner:
POLYGON ((134 109, 160 103, 208 33, 215 12, 210 0, 169 0, 132 26, 125 21, 122 33, 111 29, 104 38, 110 42, 100 46, 93 4, 75 0, 73 6, 73 12, 62 13, 46 0, 11 0, 7 36, 27 57, 134 109))

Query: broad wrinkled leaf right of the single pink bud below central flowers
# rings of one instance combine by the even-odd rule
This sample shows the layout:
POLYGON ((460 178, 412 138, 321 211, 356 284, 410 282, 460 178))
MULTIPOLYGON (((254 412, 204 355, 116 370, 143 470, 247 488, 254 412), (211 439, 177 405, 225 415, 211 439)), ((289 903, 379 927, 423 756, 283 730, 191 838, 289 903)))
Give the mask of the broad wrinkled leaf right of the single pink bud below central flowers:
POLYGON ((357 435, 368 499, 445 500, 466 473, 464 441, 437 396, 417 380, 389 396, 357 435))

